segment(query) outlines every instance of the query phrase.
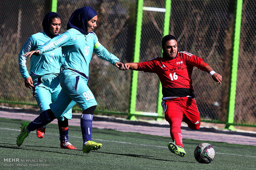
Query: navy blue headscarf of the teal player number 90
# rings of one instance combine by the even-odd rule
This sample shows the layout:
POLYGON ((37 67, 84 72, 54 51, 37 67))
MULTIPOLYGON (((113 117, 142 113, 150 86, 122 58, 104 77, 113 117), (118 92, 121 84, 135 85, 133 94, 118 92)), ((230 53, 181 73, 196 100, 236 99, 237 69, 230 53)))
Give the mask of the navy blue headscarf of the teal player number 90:
POLYGON ((87 35, 89 33, 87 22, 96 15, 97 12, 92 9, 92 7, 76 9, 70 16, 66 29, 69 30, 70 28, 75 28, 81 33, 87 35))

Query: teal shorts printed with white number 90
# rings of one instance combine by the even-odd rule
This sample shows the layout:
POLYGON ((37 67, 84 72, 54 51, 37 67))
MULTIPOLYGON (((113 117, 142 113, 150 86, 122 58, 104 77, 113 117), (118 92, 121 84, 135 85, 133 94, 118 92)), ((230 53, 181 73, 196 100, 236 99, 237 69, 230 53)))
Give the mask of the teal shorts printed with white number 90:
POLYGON ((76 103, 83 110, 97 105, 95 97, 87 85, 87 78, 69 69, 61 71, 59 77, 62 90, 57 101, 50 104, 56 118, 61 117, 76 103))

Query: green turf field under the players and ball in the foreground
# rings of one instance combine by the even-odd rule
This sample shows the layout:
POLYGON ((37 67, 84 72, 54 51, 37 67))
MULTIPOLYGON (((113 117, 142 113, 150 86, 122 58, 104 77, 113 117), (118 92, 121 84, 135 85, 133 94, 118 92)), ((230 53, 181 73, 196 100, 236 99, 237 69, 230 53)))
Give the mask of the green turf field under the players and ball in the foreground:
POLYGON ((104 129, 92 130, 93 140, 101 142, 102 149, 83 154, 80 127, 70 126, 69 128, 69 142, 78 150, 67 150, 59 147, 57 124, 47 125, 43 139, 37 138, 36 133, 31 132, 23 145, 18 147, 16 137, 19 135, 21 122, 26 121, 0 118, 0 170, 256 169, 256 147, 254 146, 184 139, 183 144, 187 155, 180 157, 168 150, 167 144, 170 138, 104 129), (200 164, 194 159, 194 148, 201 142, 210 143, 216 150, 215 159, 210 164, 200 164), (9 158, 19 162, 7 162, 6 159, 9 160, 9 158))

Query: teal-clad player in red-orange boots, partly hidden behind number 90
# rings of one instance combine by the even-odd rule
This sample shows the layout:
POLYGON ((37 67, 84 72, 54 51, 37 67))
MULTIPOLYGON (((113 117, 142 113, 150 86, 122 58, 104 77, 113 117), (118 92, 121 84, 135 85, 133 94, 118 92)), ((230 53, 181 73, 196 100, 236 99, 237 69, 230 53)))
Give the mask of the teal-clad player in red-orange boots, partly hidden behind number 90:
MULTIPOLYGON (((38 32, 28 38, 19 53, 19 71, 24 78, 25 87, 33 90, 40 113, 50 108, 50 103, 55 102, 61 90, 59 85, 59 69, 62 49, 56 48, 53 51, 42 53, 40 56, 32 55, 30 59, 30 73, 26 67, 27 57, 25 53, 37 49, 50 39, 59 35, 61 28, 60 16, 55 12, 49 12, 43 18, 43 32, 38 32)), ((68 110, 58 118, 60 147, 64 149, 76 149, 69 142, 69 123, 72 117, 72 110, 68 110)), ((37 129, 38 138, 45 135, 45 126, 37 129)))

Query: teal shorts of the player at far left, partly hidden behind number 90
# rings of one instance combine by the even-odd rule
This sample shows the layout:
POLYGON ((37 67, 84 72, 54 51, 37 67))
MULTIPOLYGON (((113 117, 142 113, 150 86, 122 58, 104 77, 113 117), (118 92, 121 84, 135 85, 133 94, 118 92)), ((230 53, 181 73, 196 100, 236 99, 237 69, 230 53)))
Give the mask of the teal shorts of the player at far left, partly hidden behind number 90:
MULTIPOLYGON (((33 78, 33 96, 35 97, 40 113, 44 110, 50 109, 50 103, 57 100, 61 86, 59 85, 59 76, 55 74, 49 74, 38 78, 33 78)), ((59 120, 71 119, 72 109, 66 110, 63 116, 59 117, 59 120)))

